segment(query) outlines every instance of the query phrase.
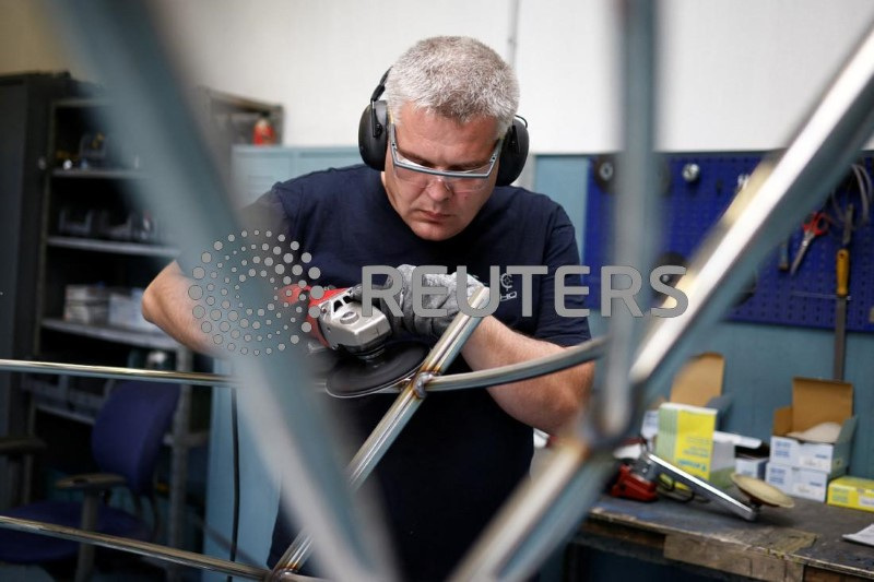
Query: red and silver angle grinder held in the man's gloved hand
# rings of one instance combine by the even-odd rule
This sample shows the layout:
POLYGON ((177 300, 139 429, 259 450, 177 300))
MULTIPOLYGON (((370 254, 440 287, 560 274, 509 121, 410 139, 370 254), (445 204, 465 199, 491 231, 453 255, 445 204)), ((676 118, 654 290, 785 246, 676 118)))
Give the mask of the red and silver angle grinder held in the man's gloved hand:
POLYGON ((386 314, 374 306, 365 316, 356 289, 328 288, 318 298, 309 287, 282 289, 286 306, 307 301, 309 334, 318 342, 314 352, 330 349, 339 356, 330 358, 324 384, 329 394, 341 399, 397 384, 418 369, 428 352, 421 342, 392 341, 386 314))

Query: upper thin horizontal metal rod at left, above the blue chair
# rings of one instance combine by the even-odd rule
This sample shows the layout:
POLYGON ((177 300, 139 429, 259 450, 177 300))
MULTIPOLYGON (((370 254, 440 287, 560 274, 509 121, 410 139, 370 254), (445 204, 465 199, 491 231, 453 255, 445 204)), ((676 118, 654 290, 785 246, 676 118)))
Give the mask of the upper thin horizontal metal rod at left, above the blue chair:
POLYGON ((147 370, 144 368, 121 368, 117 366, 94 366, 87 364, 63 364, 24 359, 0 359, 0 370, 80 376, 85 378, 111 378, 116 380, 150 380, 152 382, 190 385, 233 385, 239 382, 236 378, 231 376, 221 376, 216 373, 147 370))

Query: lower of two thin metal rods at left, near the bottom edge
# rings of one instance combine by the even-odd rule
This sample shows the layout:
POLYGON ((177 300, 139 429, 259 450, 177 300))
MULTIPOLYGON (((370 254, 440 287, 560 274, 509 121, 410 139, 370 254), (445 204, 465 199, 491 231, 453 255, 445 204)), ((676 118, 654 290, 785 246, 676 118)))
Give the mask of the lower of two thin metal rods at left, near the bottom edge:
MULTIPOLYGON (((186 551, 182 549, 170 548, 161 546, 158 544, 150 544, 149 542, 140 542, 138 539, 130 539, 127 537, 119 537, 115 535, 101 534, 97 532, 88 532, 79 530, 76 527, 68 527, 66 525, 56 525, 54 523, 44 523, 33 520, 22 520, 17 518, 9 518, 0 515, 0 526, 16 530, 19 532, 26 532, 31 534, 47 535, 50 537, 59 537, 61 539, 71 539, 73 542, 81 542, 94 546, 102 546, 110 549, 119 549, 139 556, 146 556, 150 558, 157 558, 181 566, 190 566, 201 570, 211 570, 221 572, 223 574, 237 575, 250 580, 264 580, 268 570, 263 568, 255 568, 244 563, 236 563, 193 551, 186 551)), ((307 581, 312 580, 308 577, 298 577, 298 580, 307 581)))

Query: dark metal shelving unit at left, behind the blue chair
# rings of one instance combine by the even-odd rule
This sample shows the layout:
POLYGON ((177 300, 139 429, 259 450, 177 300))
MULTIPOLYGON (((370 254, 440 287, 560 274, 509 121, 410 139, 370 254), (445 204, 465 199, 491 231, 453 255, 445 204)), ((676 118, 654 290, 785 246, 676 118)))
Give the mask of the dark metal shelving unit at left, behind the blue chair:
MULTIPOLYGON (((149 180, 149 173, 140 167, 132 141, 113 134, 103 121, 102 110, 111 106, 102 98, 57 99, 50 106, 48 154, 40 163, 46 180, 34 359, 127 366, 134 356, 145 358, 149 351, 161 351, 175 369, 190 371, 193 354, 157 328, 103 318, 78 320, 66 313, 69 286, 105 287, 107 294, 142 288, 178 256, 140 204, 137 188, 149 180)), ((44 415, 93 424, 111 381, 80 380, 25 378, 22 388, 31 395, 31 427, 44 415)), ((192 427, 192 388, 180 390, 165 437, 169 501, 164 521, 173 547, 182 547, 189 452, 208 440, 208 427, 192 427)))

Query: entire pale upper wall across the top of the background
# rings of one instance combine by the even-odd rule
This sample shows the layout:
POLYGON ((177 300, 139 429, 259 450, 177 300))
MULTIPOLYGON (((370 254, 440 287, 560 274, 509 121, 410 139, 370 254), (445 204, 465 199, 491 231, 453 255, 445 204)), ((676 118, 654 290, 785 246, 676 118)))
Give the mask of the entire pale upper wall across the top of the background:
MULTIPOLYGON (((615 0, 153 0, 186 78, 282 103, 290 145, 353 145, 374 85, 415 39, 477 36, 516 63, 532 151, 615 149, 615 0)), ((874 17, 867 0, 663 0, 659 145, 783 145, 874 17)), ((81 67, 29 0, 0 0, 0 73, 81 67)))

